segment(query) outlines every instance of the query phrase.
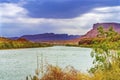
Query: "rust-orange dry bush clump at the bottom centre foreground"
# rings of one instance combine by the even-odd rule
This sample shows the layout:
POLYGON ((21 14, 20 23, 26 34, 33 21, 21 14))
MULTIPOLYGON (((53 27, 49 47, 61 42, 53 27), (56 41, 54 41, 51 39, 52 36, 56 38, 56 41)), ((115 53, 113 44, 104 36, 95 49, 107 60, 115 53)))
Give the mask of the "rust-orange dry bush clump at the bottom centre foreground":
POLYGON ((41 80, 89 80, 87 74, 82 74, 73 67, 61 69, 58 66, 49 66, 41 80))

